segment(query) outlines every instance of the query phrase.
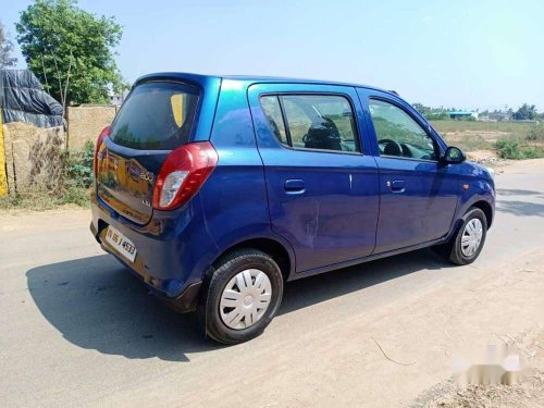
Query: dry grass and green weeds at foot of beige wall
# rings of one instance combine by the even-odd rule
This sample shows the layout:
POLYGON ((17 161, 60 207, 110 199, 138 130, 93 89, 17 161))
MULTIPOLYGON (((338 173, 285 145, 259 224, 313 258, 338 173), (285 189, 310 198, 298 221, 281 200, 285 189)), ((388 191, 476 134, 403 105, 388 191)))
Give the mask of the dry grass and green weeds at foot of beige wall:
POLYGON ((89 206, 94 182, 95 146, 88 141, 82 151, 64 151, 59 180, 34 183, 24 190, 0 197, 0 209, 50 210, 61 206, 89 206))

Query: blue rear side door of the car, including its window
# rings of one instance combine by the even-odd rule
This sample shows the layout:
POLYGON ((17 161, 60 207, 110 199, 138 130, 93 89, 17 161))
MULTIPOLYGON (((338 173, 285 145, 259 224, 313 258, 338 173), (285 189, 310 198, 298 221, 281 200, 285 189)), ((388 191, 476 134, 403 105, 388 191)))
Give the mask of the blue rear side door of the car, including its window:
POLYGON ((363 154, 355 89, 259 84, 249 88, 249 103, 272 230, 294 247, 297 272, 370 255, 378 171, 363 154))

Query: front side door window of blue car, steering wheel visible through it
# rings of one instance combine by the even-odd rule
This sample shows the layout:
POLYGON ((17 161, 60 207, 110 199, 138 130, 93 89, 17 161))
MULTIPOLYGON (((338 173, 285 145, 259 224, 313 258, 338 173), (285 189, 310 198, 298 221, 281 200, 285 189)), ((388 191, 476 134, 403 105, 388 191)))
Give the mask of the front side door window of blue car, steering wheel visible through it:
POLYGON ((369 101, 381 156, 437 160, 437 146, 403 109, 382 100, 369 101))

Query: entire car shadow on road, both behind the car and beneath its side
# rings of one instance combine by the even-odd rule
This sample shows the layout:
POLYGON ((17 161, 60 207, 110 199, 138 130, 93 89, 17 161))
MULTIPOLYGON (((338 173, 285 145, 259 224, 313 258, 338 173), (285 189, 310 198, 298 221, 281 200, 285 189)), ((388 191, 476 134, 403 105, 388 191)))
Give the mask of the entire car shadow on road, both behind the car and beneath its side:
MULTIPOLYGON (((286 284, 281 314, 448 264, 429 250, 364 263, 286 284)), ((86 349, 131 359, 189 361, 187 354, 221 345, 206 341, 195 313, 162 305, 108 255, 34 268, 26 273, 41 314, 63 337, 86 349)))

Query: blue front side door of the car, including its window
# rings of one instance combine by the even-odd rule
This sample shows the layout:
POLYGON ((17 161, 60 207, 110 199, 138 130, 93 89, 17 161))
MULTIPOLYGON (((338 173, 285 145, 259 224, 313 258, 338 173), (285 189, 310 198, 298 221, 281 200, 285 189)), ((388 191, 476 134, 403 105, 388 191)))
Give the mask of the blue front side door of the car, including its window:
POLYGON ((369 116, 380 172, 375 254, 445 236, 458 200, 458 165, 444 165, 444 144, 406 102, 358 89, 369 116))

